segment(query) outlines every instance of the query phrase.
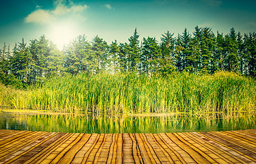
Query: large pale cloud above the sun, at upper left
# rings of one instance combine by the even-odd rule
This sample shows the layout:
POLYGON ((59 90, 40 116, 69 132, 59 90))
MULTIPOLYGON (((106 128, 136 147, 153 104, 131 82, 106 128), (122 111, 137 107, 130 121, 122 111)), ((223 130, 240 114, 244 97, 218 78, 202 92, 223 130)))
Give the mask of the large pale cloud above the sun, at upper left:
POLYGON ((55 0, 53 5, 55 5, 53 10, 42 10, 37 6, 36 10, 25 18, 25 22, 47 24, 62 16, 77 16, 77 18, 85 20, 81 13, 88 8, 87 5, 75 5, 72 1, 66 5, 65 0, 55 0))

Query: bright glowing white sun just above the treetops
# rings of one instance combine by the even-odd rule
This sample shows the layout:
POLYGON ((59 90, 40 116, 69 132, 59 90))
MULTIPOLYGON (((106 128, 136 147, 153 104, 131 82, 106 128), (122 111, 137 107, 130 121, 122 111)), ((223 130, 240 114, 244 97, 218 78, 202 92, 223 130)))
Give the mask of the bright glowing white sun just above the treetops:
POLYGON ((49 39, 56 44, 57 49, 62 50, 79 35, 78 31, 72 22, 53 23, 49 28, 49 39))

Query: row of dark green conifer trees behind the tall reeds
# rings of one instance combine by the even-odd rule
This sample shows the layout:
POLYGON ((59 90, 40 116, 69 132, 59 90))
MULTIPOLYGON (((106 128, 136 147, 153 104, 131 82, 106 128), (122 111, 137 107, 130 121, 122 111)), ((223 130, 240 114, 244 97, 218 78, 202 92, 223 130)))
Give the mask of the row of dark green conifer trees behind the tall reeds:
POLYGON ((191 72, 214 74, 231 71, 256 76, 256 33, 236 32, 215 34, 209 27, 196 26, 190 33, 174 37, 167 31, 161 41, 142 38, 135 29, 129 42, 107 44, 95 36, 88 41, 85 35, 78 36, 62 51, 45 36, 24 39, 10 50, 0 49, 0 77, 2 83, 27 85, 42 81, 51 75, 101 71, 137 72, 138 74, 162 74, 191 72))

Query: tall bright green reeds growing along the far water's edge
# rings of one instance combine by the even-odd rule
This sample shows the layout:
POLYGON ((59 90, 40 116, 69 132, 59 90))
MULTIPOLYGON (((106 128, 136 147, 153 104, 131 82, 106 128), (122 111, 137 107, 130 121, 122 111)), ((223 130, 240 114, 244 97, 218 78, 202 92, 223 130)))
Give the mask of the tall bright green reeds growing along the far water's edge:
POLYGON ((249 111, 256 81, 231 72, 214 75, 78 74, 52 77, 12 98, 16 108, 63 112, 170 113, 249 111))

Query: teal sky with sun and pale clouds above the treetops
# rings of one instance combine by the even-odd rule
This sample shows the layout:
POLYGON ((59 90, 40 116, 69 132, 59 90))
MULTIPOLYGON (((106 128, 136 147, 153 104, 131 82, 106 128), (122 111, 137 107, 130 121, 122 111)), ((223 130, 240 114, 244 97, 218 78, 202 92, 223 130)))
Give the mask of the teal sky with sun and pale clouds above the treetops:
POLYGON ((190 33, 194 27, 210 27, 227 34, 256 32, 256 1, 252 0, 2 0, 0 2, 0 49, 24 38, 45 35, 59 49, 79 35, 89 41, 99 36, 129 42, 137 28, 143 38, 190 33))

